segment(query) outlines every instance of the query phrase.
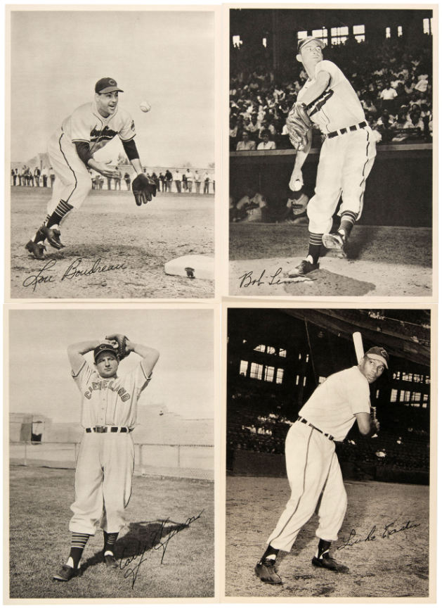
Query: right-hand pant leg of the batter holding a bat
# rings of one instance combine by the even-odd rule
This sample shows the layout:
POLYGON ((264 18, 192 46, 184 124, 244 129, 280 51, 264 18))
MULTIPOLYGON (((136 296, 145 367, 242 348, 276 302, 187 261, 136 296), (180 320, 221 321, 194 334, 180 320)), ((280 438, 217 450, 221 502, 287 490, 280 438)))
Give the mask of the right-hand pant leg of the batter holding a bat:
POLYGON ((319 526, 316 536, 323 540, 337 540, 347 510, 347 493, 342 480, 342 471, 336 453, 333 455, 330 472, 325 482, 323 498, 319 507, 319 526))

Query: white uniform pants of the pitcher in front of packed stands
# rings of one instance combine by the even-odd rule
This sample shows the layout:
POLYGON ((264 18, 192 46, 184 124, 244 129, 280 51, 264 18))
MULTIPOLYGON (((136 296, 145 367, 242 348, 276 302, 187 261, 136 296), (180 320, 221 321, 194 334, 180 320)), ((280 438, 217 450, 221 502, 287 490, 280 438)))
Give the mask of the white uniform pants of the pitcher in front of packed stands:
POLYGON ((365 180, 376 156, 371 134, 371 129, 366 128, 325 139, 320 151, 315 194, 307 206, 309 232, 330 232, 341 195, 339 215, 351 211, 360 218, 365 180))

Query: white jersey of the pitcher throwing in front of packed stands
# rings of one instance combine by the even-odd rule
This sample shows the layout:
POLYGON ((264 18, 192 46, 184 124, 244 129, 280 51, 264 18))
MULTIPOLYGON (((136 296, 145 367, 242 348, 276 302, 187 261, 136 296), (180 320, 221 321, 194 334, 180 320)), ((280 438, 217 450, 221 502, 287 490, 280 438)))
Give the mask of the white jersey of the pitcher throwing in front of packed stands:
POLYGON ((299 91, 297 101, 315 82, 319 72, 327 72, 330 82, 319 99, 314 103, 313 110, 309 110, 310 118, 320 130, 327 134, 337 129, 358 125, 365 120, 364 110, 360 104, 356 91, 344 76, 342 70, 332 61, 323 59, 315 66, 315 78, 307 80, 299 91))

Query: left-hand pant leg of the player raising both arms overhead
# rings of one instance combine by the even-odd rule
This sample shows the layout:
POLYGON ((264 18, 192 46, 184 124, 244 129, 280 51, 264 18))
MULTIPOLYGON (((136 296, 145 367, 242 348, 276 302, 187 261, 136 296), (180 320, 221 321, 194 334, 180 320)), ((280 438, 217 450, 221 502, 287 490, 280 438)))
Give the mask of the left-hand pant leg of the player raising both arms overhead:
POLYGON ((75 471, 74 513, 71 532, 95 534, 103 515, 103 469, 100 462, 101 438, 98 433, 84 433, 75 471))

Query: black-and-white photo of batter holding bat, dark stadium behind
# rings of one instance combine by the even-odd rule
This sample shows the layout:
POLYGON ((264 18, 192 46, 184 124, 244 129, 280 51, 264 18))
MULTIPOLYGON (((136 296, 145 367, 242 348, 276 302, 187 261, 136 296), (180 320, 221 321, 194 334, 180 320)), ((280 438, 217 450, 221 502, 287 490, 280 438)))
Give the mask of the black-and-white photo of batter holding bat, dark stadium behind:
POLYGON ((227 308, 228 600, 436 601, 435 310, 227 308))

